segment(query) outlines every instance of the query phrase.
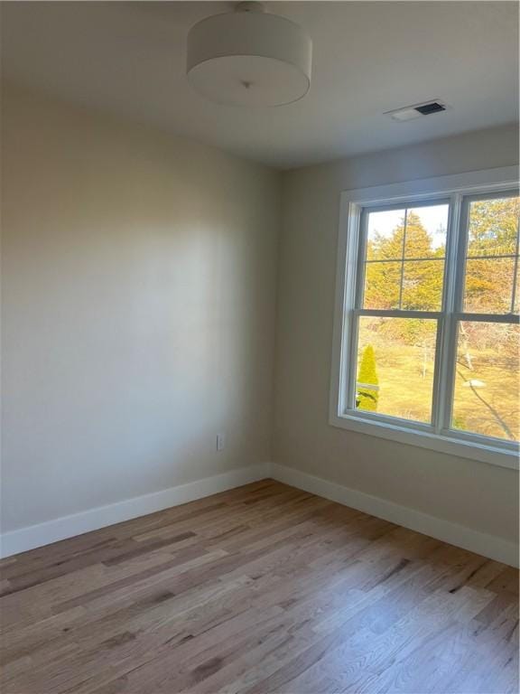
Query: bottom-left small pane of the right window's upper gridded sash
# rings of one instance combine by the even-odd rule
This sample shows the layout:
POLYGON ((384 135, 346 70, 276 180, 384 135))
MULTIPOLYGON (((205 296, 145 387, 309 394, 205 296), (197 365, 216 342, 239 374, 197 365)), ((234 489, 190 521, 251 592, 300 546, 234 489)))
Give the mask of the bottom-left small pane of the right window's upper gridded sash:
POLYGON ((511 311, 515 258, 466 261, 464 311, 508 314, 511 311))

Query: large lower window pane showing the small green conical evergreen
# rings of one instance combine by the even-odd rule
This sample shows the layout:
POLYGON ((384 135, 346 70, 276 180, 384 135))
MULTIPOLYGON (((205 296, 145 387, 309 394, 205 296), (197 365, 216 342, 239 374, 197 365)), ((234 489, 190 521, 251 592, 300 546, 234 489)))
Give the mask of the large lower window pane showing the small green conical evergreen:
POLYGON ((356 407, 430 423, 436 333, 434 320, 361 316, 356 407))

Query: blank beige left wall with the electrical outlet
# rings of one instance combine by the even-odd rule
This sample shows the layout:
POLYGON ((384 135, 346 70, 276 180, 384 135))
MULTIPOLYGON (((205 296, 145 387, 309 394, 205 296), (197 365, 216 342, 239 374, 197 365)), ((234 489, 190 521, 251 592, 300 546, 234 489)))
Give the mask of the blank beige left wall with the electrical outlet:
POLYGON ((279 174, 3 111, 3 530, 268 461, 279 174))

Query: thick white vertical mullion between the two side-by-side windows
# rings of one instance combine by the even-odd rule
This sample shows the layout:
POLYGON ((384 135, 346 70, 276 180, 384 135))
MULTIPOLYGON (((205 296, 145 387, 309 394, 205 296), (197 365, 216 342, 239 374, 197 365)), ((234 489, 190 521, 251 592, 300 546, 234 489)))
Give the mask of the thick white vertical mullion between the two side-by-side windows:
POLYGON ((457 322, 455 314, 461 300, 461 282, 464 263, 464 233, 467 213, 463 210, 459 193, 451 195, 450 217, 444 267, 444 295, 442 317, 438 325, 438 341, 433 381, 432 426, 436 433, 450 427, 453 403, 453 384, 457 360, 457 322))

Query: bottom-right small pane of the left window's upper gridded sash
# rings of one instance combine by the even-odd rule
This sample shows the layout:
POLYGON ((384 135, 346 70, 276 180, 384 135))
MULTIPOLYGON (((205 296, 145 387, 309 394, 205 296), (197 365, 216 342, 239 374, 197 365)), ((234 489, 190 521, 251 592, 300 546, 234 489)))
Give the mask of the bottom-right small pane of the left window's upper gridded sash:
POLYGON ((443 260, 404 261, 401 308, 408 311, 440 311, 443 260))

